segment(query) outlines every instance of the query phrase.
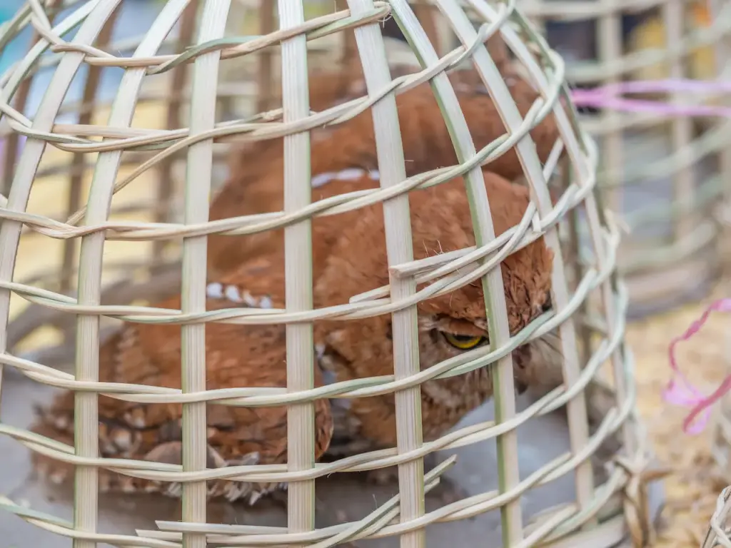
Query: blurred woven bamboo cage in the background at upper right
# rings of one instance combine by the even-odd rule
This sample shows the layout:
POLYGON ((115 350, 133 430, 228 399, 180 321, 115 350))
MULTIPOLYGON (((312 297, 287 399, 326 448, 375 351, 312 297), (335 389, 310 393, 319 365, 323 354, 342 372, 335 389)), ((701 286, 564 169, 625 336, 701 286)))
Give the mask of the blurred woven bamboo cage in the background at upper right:
MULTIPOLYGON (((567 59, 567 80, 578 88, 729 75, 731 5, 725 1, 518 5, 567 59)), ((689 92, 645 97, 686 106, 725 100, 689 92)), ((629 286, 630 316, 706 294, 728 256, 720 236, 727 226, 730 123, 614 110, 581 118, 599 143, 602 197, 631 231, 618 259, 629 286)))

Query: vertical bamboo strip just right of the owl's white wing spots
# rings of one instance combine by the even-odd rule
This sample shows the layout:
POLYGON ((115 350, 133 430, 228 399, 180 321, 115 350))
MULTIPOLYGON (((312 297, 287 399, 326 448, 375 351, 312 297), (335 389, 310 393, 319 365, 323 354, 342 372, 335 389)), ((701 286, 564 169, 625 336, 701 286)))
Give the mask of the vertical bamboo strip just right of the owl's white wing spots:
MULTIPOLYGON (((301 0, 279 0, 279 28, 298 26, 305 20, 301 0)), ((304 35, 282 42, 281 89, 284 122, 309 114, 307 42, 304 35)), ((284 137, 284 211, 305 207, 311 201, 310 135, 300 132, 284 137)), ((312 232, 309 218, 284 229, 284 275, 287 311, 312 308, 312 232)), ((314 340, 312 324, 287 325, 287 389, 314 387, 314 340)), ((314 406, 303 403, 287 409, 287 466, 308 470, 314 466, 314 406)), ((290 533, 315 526, 315 482, 289 484, 290 533)))

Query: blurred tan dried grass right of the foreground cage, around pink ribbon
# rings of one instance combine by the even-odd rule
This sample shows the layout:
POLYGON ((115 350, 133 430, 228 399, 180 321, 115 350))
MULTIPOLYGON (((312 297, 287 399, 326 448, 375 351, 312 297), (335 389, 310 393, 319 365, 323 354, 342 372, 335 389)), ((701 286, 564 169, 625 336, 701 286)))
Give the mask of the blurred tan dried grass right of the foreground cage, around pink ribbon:
MULTIPOLYGON (((697 319, 708 302, 727 296, 729 285, 722 284, 702 302, 630 324, 626 333, 636 357, 638 410, 659 459, 675 470, 665 480, 663 524, 655 548, 700 547, 719 492, 731 480, 723 476, 713 459, 713 428, 696 436, 683 434, 682 422, 688 409, 671 407, 662 400, 662 389, 670 379, 670 338, 697 319)), ((679 364, 702 389, 716 387, 727 374, 727 321, 722 315, 714 316, 694 338, 678 347, 679 364)))

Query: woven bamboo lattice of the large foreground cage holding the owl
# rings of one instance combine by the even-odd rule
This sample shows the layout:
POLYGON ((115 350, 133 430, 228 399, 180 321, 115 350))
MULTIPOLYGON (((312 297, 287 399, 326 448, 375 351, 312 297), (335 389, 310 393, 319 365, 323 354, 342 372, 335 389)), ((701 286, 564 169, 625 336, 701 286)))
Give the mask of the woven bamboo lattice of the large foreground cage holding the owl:
MULTIPOLYGON (((643 457, 646 449, 640 443, 642 435, 635 417, 632 355, 623 343, 626 290, 614 275, 618 228, 594 195, 596 146, 577 125, 564 82, 564 63, 526 22, 515 8, 515 2, 490 4, 471 0, 470 18, 481 21, 475 27, 458 0, 437 0, 436 7, 461 42, 459 47, 439 56, 405 0, 349 0, 347 9, 309 20, 304 20, 300 1, 281 0, 279 29, 254 38, 225 35, 232 0, 167 0, 142 38, 121 47, 110 42, 106 29, 113 23, 118 9, 129 1, 67 1, 58 10, 53 7, 57 3, 28 0, 0 31, 0 47, 23 29, 30 28, 33 33, 26 56, 0 78, 0 110, 3 123, 9 128, 6 148, 15 146, 17 151, 5 151, 12 156, 12 161, 6 161, 12 169, 6 171, 7 192, 0 204, 0 362, 6 378, 7 371, 12 369, 39 383, 75 391, 75 447, 4 422, 0 422, 0 433, 15 438, 33 452, 77 465, 73 522, 31 511, 8 499, 1 501, 3 508, 40 528, 75 539, 75 548, 91 547, 97 542, 155 547, 178 546, 182 542, 185 547, 202 547, 206 540, 201 533, 207 533, 208 541, 214 543, 220 536, 227 537, 224 542, 232 545, 304 542, 308 546, 325 547, 348 540, 400 536, 402 547, 423 547, 425 525, 463 520, 491 510, 498 510, 502 515, 499 536, 506 547, 532 547, 570 539, 584 525, 599 522, 613 525, 609 533, 607 528, 597 533, 599 536, 591 544, 596 547, 616 544, 626 531, 624 525, 615 526, 624 523, 622 500, 632 496, 629 486, 637 487, 639 472, 629 466, 610 466, 605 481, 595 484, 596 466, 591 457, 615 435, 621 440, 621 453, 626 458, 643 457), (197 11, 189 6, 197 6, 197 11), (187 23, 186 8, 195 13, 187 23), (379 21, 386 17, 398 22, 421 65, 413 74, 394 79, 390 75, 379 28, 379 21), (181 20, 179 26, 178 20, 181 20), (188 28, 192 41, 181 44, 173 39, 170 45, 170 37, 175 37, 176 31, 183 36, 184 28, 188 28), (308 45, 333 34, 351 32, 355 35, 367 92, 312 113, 306 93, 308 45), (523 115, 511 95, 510 83, 501 76, 485 46, 488 39, 498 35, 515 57, 521 77, 536 91, 535 101, 523 115), (170 53, 161 53, 163 45, 170 53), (219 89, 213 83, 219 81, 221 67, 267 48, 278 49, 281 56, 281 110, 220 121, 219 89), (456 86, 447 74, 463 63, 469 64, 477 74, 507 128, 497 140, 479 150, 458 102, 456 86), (94 118, 77 106, 76 123, 59 122, 61 113, 69 108, 64 99, 72 80, 83 69, 95 67, 124 72, 105 115, 94 118), (30 110, 19 98, 27 94, 27 86, 40 68, 50 69, 52 76, 37 108, 30 110), (175 80, 182 69, 189 71, 189 83, 175 80), (168 116, 168 125, 163 129, 141 126, 135 121, 135 113, 142 108, 144 85, 149 79, 165 75, 174 85, 187 88, 175 99, 185 105, 187 119, 168 116), (397 115, 396 96, 409 93, 427 81, 446 122, 458 163, 406 177, 406 133, 397 115), (316 142, 314 137, 311 141, 309 132, 314 135, 324 126, 349 123, 364 111, 372 119, 379 186, 314 200, 310 189, 317 173, 313 172, 316 162, 310 151, 316 142), (529 132, 549 118, 555 121, 558 138, 550 143, 545 159, 541 159, 529 132), (18 136, 25 139, 22 146, 18 136), (284 210, 210 222, 208 203, 219 142, 235 138, 251 144, 278 137, 284 137, 281 175, 284 210), (510 152, 512 148, 515 152, 510 152), (34 188, 40 184, 42 161, 58 151, 69 155, 68 170, 90 162, 91 175, 82 207, 77 211, 72 208, 67 216, 52 218, 35 212, 30 206, 34 188), (530 202, 520 223, 496 237, 489 208, 491 191, 489 186, 486 190, 481 166, 489 171, 491 163, 497 165, 495 162, 506 153, 517 153, 530 202), (181 218, 160 216, 158 204, 149 205, 147 217, 126 214, 124 209, 115 210, 118 199, 132 191, 145 176, 157 176, 159 180, 153 184, 166 184, 165 177, 170 171, 155 170, 175 154, 181 155, 186 166, 181 218), (135 159, 131 168, 125 164, 130 157, 135 159), (415 193, 427 192, 457 176, 463 177, 469 199, 476 246, 414 260, 407 194, 416 196, 415 193), (558 194, 553 189, 549 191, 549 181, 557 177, 561 178, 558 194), (341 305, 313 308, 311 219, 317 221, 317 218, 380 204, 385 220, 390 285, 349 295, 349 301, 341 305), (588 239, 580 243, 575 224, 571 222, 575 216, 586 218, 588 227, 588 239), (206 311, 206 236, 224 232, 230 237, 252 235, 280 227, 284 227, 286 251, 286 305, 206 311), (47 283, 30 276, 20 279, 18 272, 23 265, 16 256, 23 241, 31 237, 78 243, 64 247, 64 253, 77 257, 74 286, 62 290, 58 280, 47 283), (499 265, 507 256, 539 238, 553 251, 552 308, 511 335, 499 265), (124 294, 121 286, 115 286, 117 289, 111 295, 104 293, 106 249, 119 242, 138 245, 164 241, 182 243, 180 310, 140 305, 139 299, 143 297, 130 291, 126 292, 126 302, 119 302, 120 295, 124 294), (459 359, 447 359, 420 369, 418 351, 412 351, 416 344, 417 303, 478 279, 485 296, 490 344, 461 354, 459 359), (592 295, 596 298, 590 299, 592 295), (58 370, 53 363, 42 362, 40 354, 19 355, 14 346, 18 337, 10 336, 14 317, 9 315, 11 297, 13 302, 29 303, 43 313, 50 311, 56 319, 65 318, 67 324, 74 326, 64 335, 74 340, 69 334, 75 334, 73 374, 58 370), (393 375, 354 378, 315 388, 311 353, 313 322, 348 322, 383 314, 390 314, 393 324, 393 375), (159 324, 181 324, 181 389, 99 384, 102 343, 99 326, 107 319, 134 322, 140 332, 159 324), (203 365, 206 363, 205 334, 216 323, 225 322, 287 325, 286 386, 226 387, 207 392, 203 365), (510 353, 526 341, 549 332, 555 332, 561 340, 560 373, 564 382, 559 382, 537 403, 518 410, 510 353), (587 402, 584 392, 595 382, 599 383, 596 379, 604 364, 611 371, 611 378, 600 384, 612 387, 607 388, 612 394, 611 406, 602 411, 602 420, 590 431, 587 405, 591 407, 592 402, 587 402), (423 441, 420 386, 430 378, 447 378, 485 367, 493 372, 495 420, 423 441), (394 448, 334 463, 314 462, 315 400, 392 393, 396 395, 398 427, 394 448), (100 457, 99 395, 107 400, 181 404, 183 464, 111 461, 100 457), (206 454, 202 440, 206 436, 207 406, 202 403, 205 402, 210 404, 208 408, 213 408, 213 403, 253 409, 289 406, 286 463, 263 467, 240 465, 204 472, 206 454), (521 476, 518 427, 563 407, 570 438, 567 452, 530 476, 521 476), (438 511, 425 511, 425 490, 430 490, 446 465, 452 463, 448 460, 446 465, 425 473, 422 464, 425 454, 436 449, 452 451, 491 439, 500 441, 497 490, 471 496, 438 511), (314 530, 314 479, 386 465, 398 465, 398 498, 379 506, 362 521, 314 530), (182 523, 171 529, 170 523, 161 522, 161 530, 138 531, 139 536, 96 532, 97 476, 108 470, 183 484, 182 523), (233 473, 239 479, 257 482, 289 482, 288 528, 251 526, 246 528, 246 533, 241 533, 236 528, 221 532, 203 525, 205 480, 230 478, 233 473), (540 517, 524 515, 521 497, 534 487, 550 484, 562 476, 574 478, 575 503, 557 507, 540 517)), ((94 110, 94 95, 91 97, 94 110)), ((154 249, 159 253, 160 248, 154 249)), ((153 262, 150 258, 145 260, 153 262)), ((60 275, 56 274, 58 278, 60 275)), ((139 268, 130 270, 128 275, 126 283, 134 286, 140 278, 139 268)), ((148 269, 145 275, 154 278, 156 273, 148 269)))

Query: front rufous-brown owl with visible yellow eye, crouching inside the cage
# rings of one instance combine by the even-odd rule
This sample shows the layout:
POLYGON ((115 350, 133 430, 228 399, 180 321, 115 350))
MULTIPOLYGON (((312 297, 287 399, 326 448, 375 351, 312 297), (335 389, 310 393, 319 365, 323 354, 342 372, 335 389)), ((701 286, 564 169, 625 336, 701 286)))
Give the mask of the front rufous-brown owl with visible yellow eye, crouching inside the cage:
MULTIPOLYGON (((363 189, 377 186, 374 172, 337 173, 325 186, 363 189)), ((529 203, 528 191, 484 172, 496 233, 518 224, 529 203)), ((323 188, 325 188, 325 186, 323 188)), ((317 195, 314 189, 313 194, 317 195)), ((414 258, 474 245, 463 181, 455 179, 409 195, 414 258)), ((385 230, 381 205, 313 221, 314 305, 342 305, 352 295, 388 283, 385 230), (322 235, 333 235, 329 239, 322 235)), ((501 273, 510 330, 518 332, 550 307, 552 255, 542 239, 507 257, 501 273)), ((159 303, 180 308, 179 297, 159 303)), ((284 308, 284 253, 281 246, 251 259, 208 285, 208 309, 284 308)), ((487 344, 488 325, 479 281, 442 297, 421 302, 418 309, 420 366, 428 368, 468 349, 487 344)), ((319 321, 314 327, 315 384, 393 373, 390 316, 351 321, 319 321)), ((537 341, 538 343, 539 341, 537 341)), ((516 386, 534 384, 546 369, 537 343, 513 352, 516 386)), ((208 324, 208 389, 286 386, 285 330, 282 325, 208 324)), ((552 358, 553 359, 553 358, 552 358)), ((128 324, 102 347, 99 380, 163 387, 181 386, 180 328, 174 325, 128 324)), ((425 439, 439 437, 471 409, 493 394, 491 368, 423 384, 425 439)), ((67 444, 73 442, 74 396, 62 392, 39 409, 34 432, 67 444)), ((284 463, 287 458, 285 407, 243 408, 208 405, 210 468, 252 463, 284 463)), ((315 402, 316 457, 338 458, 395 445, 393 395, 315 402)), ((181 462, 181 406, 140 405, 99 397, 99 452, 104 457, 181 462)), ((72 466, 34 454, 34 465, 54 483, 72 477, 72 466)), ((101 469, 100 489, 117 492, 164 492, 176 496, 178 484, 132 479, 101 469)), ((211 497, 246 498, 250 503, 275 490, 275 484, 217 481, 211 497)))

